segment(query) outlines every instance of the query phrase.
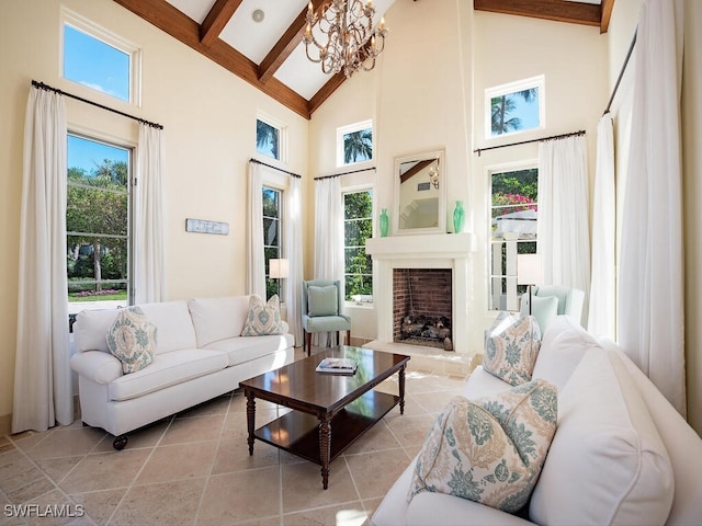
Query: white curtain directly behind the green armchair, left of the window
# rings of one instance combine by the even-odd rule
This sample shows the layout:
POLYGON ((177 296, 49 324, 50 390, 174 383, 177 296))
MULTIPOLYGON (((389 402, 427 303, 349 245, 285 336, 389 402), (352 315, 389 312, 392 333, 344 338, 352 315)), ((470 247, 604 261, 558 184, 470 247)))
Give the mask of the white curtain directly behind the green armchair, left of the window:
MULTIPOLYGON (((315 279, 343 279, 343 203, 339 178, 315 181, 315 279)), ((317 344, 329 343, 328 333, 318 333, 317 344)))

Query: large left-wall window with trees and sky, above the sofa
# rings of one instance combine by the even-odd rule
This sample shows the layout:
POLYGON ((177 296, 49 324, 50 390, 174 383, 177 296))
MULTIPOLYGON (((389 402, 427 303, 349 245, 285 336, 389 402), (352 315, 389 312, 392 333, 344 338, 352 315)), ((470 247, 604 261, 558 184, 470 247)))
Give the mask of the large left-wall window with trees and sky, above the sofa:
POLYGON ((132 150, 68 135, 69 313, 129 302, 132 150))

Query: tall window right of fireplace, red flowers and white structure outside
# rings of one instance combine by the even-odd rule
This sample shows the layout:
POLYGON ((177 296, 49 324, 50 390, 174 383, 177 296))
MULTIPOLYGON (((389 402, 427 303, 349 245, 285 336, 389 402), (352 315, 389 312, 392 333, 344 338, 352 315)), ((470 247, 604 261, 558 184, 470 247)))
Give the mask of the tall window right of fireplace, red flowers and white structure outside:
POLYGON ((517 254, 536 253, 539 170, 494 172, 491 175, 490 301, 489 308, 519 310, 517 254))

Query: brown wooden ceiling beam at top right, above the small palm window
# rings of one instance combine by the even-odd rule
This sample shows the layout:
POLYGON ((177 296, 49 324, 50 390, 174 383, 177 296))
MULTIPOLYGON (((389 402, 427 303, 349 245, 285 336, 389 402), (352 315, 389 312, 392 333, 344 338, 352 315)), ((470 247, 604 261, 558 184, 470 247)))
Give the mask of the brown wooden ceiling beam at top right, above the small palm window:
POLYGON ((517 14, 599 27, 601 5, 566 0, 473 0, 476 11, 517 14))

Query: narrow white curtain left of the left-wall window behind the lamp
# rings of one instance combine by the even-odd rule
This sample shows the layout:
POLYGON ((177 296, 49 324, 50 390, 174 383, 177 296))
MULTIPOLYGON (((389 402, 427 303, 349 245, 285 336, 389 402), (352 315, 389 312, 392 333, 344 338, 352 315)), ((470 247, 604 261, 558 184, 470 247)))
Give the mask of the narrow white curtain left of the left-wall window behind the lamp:
POLYGON ((247 254, 248 294, 265 298, 265 254, 263 252, 263 165, 249 162, 249 238, 247 254))

